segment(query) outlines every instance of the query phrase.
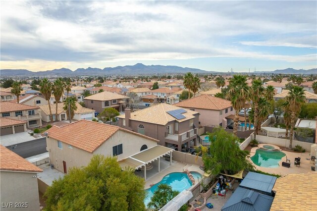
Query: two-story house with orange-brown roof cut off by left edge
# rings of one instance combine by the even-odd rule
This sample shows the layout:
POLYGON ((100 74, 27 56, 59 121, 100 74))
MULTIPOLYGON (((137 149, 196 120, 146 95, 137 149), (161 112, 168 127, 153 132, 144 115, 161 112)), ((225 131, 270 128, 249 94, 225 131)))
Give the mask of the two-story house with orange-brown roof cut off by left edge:
POLYGON ((42 116, 39 107, 23 104, 1 102, 1 117, 27 121, 27 128, 42 126, 42 116))

